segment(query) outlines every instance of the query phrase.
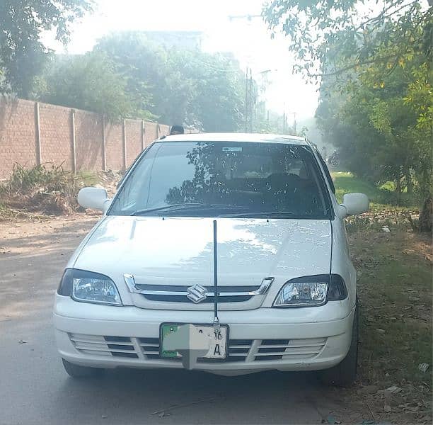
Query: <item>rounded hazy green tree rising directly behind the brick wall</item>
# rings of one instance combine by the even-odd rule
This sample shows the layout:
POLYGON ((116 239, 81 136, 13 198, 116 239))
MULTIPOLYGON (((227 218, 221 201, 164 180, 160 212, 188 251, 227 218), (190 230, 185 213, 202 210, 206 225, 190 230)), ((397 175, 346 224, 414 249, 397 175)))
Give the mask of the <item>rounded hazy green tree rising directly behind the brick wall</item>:
POLYGON ((47 103, 103 113, 110 120, 150 116, 144 99, 137 101, 127 91, 127 77, 100 52, 57 58, 41 85, 38 97, 47 103))

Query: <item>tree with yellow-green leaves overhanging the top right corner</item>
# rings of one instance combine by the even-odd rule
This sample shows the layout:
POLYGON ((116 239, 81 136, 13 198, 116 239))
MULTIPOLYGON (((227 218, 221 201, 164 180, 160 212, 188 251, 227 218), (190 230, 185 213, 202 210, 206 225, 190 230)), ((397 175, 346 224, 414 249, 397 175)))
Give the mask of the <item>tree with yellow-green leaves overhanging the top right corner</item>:
POLYGON ((325 140, 351 171, 422 194, 432 181, 433 8, 416 0, 273 0, 270 27, 321 81, 325 140))

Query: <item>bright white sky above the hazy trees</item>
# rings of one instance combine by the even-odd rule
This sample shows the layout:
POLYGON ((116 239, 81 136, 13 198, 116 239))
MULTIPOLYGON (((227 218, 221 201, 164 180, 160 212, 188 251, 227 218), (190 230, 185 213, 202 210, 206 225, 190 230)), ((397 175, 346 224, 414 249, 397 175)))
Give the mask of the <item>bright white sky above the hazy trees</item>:
MULTIPOLYGON (((270 31, 260 17, 262 0, 95 0, 95 11, 71 27, 67 52, 91 50, 99 38, 122 30, 189 30, 202 31, 202 49, 207 52, 233 52, 241 67, 251 67, 253 77, 267 72, 269 81, 265 100, 267 108, 288 113, 289 124, 312 117, 318 104, 318 87, 293 75, 293 57, 287 50, 288 40, 270 31)), ((45 44, 58 52, 64 47, 47 36, 45 44)))

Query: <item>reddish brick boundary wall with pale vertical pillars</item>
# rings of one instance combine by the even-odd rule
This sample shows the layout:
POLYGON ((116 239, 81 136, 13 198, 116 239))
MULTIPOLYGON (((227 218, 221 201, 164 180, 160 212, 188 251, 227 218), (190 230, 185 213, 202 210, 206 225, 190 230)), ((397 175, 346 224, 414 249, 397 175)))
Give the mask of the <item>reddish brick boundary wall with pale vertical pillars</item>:
POLYGON ((63 164, 71 171, 121 170, 169 126, 144 120, 110 123, 98 113, 0 98, 0 180, 13 164, 63 164))

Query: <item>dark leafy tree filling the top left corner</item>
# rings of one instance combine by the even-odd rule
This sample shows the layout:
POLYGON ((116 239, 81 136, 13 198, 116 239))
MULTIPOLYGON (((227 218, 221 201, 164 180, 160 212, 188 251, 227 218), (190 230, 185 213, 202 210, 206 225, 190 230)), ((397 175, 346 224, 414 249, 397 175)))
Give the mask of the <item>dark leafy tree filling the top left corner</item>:
POLYGON ((57 40, 67 42, 71 22, 87 11, 91 0, 0 1, 0 91, 28 96, 48 53, 40 34, 55 30, 57 40))

